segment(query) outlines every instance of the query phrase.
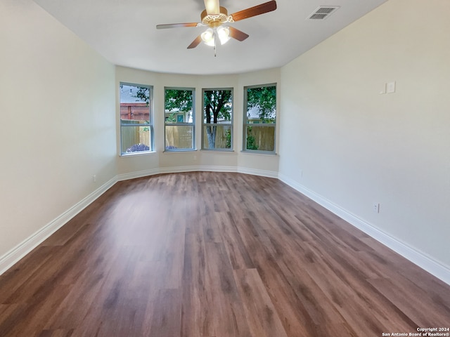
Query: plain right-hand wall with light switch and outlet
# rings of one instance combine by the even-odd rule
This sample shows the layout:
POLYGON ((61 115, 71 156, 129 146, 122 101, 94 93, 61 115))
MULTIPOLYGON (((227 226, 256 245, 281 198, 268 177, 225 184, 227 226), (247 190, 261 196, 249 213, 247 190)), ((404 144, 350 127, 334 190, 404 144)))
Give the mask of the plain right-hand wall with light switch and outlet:
POLYGON ((390 0, 283 67, 279 171, 447 282, 449 13, 390 0))

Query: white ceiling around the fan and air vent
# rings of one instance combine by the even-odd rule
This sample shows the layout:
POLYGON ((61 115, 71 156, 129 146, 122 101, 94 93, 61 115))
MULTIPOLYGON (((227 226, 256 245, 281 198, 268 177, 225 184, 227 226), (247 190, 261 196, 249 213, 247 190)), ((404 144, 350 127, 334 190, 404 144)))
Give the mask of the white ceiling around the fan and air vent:
MULTIPOLYGON (((281 67, 387 0, 277 0, 276 11, 234 22, 250 35, 217 47, 187 49, 205 27, 203 0, 34 0, 115 65, 176 74, 236 74, 281 67), (307 20, 319 6, 340 6, 326 20, 307 20)), ((229 14, 268 0, 221 0, 229 14)))

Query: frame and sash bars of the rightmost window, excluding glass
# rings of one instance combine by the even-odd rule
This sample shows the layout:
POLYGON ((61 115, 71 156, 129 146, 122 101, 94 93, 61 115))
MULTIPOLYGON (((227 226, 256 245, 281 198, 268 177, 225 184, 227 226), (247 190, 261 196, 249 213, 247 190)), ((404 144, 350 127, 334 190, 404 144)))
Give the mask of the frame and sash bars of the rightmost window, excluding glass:
POLYGON ((258 153, 258 154, 276 154, 276 124, 278 122, 278 111, 276 110, 276 103, 275 103, 275 122, 274 123, 261 123, 258 121, 257 123, 249 123, 248 122, 248 89, 252 88, 265 88, 269 86, 275 87, 275 102, 278 101, 278 92, 277 92, 277 84, 276 83, 269 83, 269 84, 255 84, 252 86, 244 86, 244 95, 243 95, 243 152, 248 153, 258 153), (260 128, 260 127, 273 127, 274 128, 274 150, 250 150, 247 148, 247 130, 248 126, 260 128))

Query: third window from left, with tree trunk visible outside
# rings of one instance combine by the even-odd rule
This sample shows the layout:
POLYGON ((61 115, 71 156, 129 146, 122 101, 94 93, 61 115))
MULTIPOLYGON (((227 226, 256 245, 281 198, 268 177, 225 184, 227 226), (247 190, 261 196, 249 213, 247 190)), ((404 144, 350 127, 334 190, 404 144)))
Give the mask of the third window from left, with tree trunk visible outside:
POLYGON ((233 90, 203 89, 202 149, 232 150, 233 90))

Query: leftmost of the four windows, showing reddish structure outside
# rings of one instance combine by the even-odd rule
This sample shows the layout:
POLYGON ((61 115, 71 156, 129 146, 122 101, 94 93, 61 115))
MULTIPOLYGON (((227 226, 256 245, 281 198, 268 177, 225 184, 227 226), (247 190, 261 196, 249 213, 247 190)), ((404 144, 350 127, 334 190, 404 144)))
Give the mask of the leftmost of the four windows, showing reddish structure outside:
POLYGON ((153 151, 151 86, 120 84, 120 153, 153 151))

